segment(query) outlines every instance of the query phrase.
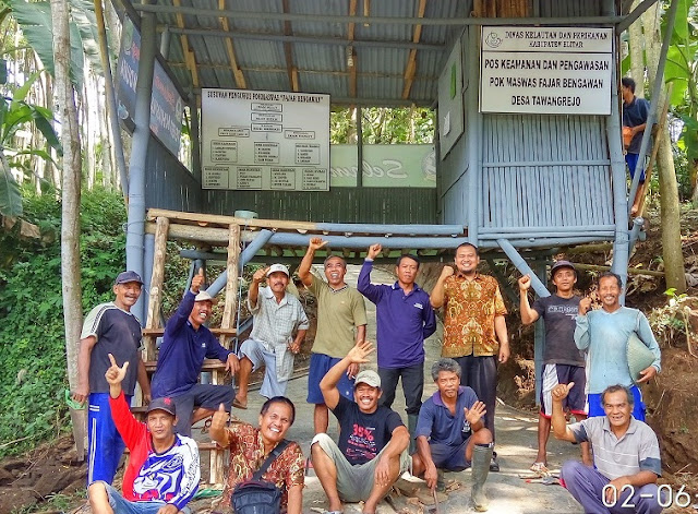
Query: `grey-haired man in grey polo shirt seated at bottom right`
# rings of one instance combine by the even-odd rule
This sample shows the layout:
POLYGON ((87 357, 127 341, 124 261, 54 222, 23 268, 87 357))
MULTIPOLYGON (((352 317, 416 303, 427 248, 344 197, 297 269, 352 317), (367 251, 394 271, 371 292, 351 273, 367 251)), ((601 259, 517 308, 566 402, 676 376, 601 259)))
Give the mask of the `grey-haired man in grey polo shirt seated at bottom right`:
POLYGON ((573 387, 574 383, 569 383, 553 389, 553 431, 563 441, 590 442, 594 467, 567 461, 559 474, 563 486, 585 512, 661 512, 657 487, 662 474, 659 443, 652 429, 633 417, 633 393, 624 385, 611 385, 601 393, 603 417, 567 425, 563 402, 573 387))

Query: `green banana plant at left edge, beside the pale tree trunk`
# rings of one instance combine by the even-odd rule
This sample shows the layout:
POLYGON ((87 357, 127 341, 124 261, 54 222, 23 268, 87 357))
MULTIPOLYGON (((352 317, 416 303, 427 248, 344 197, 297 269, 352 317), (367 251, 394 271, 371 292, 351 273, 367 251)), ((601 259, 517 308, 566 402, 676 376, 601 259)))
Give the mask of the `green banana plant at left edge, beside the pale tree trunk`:
POLYGON ((19 150, 13 146, 14 136, 20 129, 34 124, 46 139, 47 145, 62 153, 58 134, 53 130, 53 112, 46 107, 25 101, 32 84, 39 73, 32 74, 28 80, 16 88, 12 97, 0 96, 0 214, 17 217, 22 215, 22 194, 11 170, 20 167, 19 156, 31 155, 44 159, 51 159, 47 150, 19 150))

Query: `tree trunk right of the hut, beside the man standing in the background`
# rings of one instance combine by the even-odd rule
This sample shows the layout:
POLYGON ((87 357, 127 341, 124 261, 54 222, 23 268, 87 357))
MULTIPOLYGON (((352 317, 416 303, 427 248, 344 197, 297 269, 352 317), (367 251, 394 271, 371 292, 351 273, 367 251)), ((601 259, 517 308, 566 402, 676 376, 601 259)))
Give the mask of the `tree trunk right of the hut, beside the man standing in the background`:
MULTIPOLYGON (((657 64, 662 46, 660 33, 659 4, 653 4, 642 15, 645 27, 645 52, 647 55, 647 71, 650 89, 654 86, 657 64)), ((658 112, 663 111, 666 94, 662 92, 660 98, 651 98, 658 103, 658 112)), ((669 128, 664 128, 654 139, 659 145, 657 164, 659 171, 659 195, 661 206, 662 226, 662 258, 664 260, 664 273, 666 287, 676 289, 677 294, 686 292, 686 275, 684 271, 684 254, 681 243, 681 206, 678 203, 678 184, 674 168, 674 155, 672 154, 669 128)))

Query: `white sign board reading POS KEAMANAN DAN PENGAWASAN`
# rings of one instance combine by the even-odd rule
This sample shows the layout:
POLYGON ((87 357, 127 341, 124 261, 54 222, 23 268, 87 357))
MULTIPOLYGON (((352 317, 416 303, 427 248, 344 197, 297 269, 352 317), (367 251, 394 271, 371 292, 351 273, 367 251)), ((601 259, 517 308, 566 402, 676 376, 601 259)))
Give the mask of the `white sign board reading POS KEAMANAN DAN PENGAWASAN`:
POLYGON ((483 26, 480 111, 610 115, 613 28, 483 26))

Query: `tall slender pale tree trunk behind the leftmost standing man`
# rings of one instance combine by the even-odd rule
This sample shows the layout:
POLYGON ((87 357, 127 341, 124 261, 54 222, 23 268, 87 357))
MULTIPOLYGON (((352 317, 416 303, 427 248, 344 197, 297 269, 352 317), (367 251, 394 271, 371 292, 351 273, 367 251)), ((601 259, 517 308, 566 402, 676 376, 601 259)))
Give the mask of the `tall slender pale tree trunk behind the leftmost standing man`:
MULTIPOLYGON (((65 323, 65 355, 71 390, 77 386, 77 349, 82 326, 80 289, 80 177, 81 155, 73 86, 69 79, 70 33, 68 0, 51 0, 53 21, 55 92, 61 123, 62 190, 61 190, 61 282, 63 290, 63 321, 65 323)), ((76 446, 82 447, 84 429, 73 426, 76 446)))

